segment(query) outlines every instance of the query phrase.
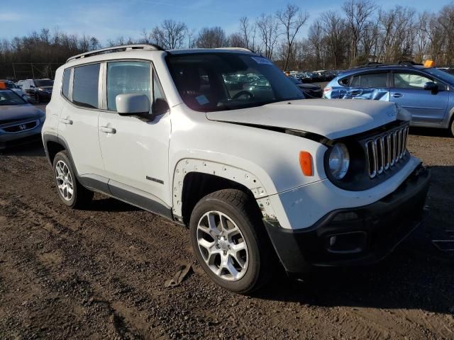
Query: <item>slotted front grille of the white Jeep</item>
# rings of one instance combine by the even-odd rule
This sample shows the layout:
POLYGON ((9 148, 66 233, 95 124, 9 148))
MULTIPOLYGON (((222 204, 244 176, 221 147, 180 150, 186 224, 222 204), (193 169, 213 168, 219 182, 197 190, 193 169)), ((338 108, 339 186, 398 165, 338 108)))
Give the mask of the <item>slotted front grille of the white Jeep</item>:
POLYGON ((406 152, 409 126, 401 126, 365 142, 369 177, 389 171, 400 162, 406 152))

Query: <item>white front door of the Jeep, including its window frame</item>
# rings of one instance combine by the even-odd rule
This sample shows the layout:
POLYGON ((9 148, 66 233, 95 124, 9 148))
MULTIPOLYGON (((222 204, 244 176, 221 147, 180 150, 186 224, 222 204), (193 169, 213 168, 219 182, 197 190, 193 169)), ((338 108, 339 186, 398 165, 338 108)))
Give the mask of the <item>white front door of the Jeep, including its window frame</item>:
POLYGON ((99 142, 105 173, 110 179, 109 190, 142 208, 156 210, 150 208, 153 201, 168 208, 170 113, 151 119, 121 116, 115 103, 118 94, 146 94, 150 103, 155 98, 164 98, 157 78, 153 77, 153 67, 142 61, 107 62, 105 74, 108 111, 99 115, 99 142))

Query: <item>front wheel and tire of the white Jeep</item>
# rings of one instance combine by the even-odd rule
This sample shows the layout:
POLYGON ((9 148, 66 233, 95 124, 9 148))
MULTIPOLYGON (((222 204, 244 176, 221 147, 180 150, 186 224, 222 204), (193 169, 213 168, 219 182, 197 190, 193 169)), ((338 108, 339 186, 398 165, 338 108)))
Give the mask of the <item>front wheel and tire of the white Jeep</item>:
POLYGON ((201 267, 226 290, 251 293, 270 280, 276 256, 257 203, 247 193, 225 189, 199 200, 189 232, 201 267))

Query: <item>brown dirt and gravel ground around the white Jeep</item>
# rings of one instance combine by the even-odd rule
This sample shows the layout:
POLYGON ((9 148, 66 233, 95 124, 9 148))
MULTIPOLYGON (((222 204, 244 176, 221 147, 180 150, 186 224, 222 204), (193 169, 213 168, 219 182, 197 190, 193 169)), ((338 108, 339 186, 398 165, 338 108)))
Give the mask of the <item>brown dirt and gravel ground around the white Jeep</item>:
POLYGON ((454 339, 454 138, 413 130, 431 166, 431 217, 367 268, 228 293, 196 265, 187 229, 96 194, 59 202, 39 144, 0 154, 0 339, 454 339), (164 287, 179 263, 194 273, 164 287))

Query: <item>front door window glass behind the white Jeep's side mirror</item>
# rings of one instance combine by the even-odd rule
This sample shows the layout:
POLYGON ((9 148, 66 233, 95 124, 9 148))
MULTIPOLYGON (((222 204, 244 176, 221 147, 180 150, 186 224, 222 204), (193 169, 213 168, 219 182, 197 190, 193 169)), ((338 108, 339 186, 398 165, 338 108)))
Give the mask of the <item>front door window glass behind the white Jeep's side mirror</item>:
MULTIPOLYGON (((150 98, 149 62, 107 63, 107 109, 116 111, 118 94, 146 94, 150 98)), ((151 103, 150 98, 150 103, 151 103)))

